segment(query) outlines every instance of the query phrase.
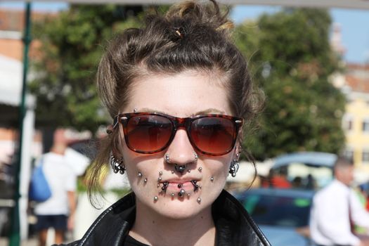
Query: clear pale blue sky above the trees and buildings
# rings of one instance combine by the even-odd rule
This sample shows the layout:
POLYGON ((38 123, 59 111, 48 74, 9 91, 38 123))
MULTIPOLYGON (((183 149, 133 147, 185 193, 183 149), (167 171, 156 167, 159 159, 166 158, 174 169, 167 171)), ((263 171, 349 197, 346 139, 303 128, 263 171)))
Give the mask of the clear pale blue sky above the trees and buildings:
MULTIPOLYGON (((20 2, 1 2, 0 8, 23 8, 20 2)), ((36 2, 33 10, 58 11, 67 8, 65 3, 36 2)), ((273 13, 280 8, 275 6, 235 6, 231 17, 237 23, 245 19, 257 18, 261 13, 273 13)), ((334 22, 342 27, 342 44, 347 49, 344 59, 353 63, 369 63, 369 11, 352 9, 330 10, 334 22), (365 24, 366 23, 366 24, 365 24)))

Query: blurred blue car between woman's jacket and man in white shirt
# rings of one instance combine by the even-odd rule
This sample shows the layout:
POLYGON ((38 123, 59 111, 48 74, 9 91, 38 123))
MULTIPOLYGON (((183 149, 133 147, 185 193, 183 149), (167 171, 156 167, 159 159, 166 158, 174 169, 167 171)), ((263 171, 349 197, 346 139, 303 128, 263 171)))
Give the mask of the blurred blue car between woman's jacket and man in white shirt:
POLYGON ((235 193, 273 246, 313 245, 309 215, 313 190, 257 188, 235 193))

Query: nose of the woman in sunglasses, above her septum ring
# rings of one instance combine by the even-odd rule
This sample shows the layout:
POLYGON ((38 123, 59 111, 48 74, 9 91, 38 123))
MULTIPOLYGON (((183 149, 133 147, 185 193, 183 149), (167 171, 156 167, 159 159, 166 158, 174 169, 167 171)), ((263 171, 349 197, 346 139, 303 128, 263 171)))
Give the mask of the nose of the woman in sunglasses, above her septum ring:
POLYGON ((171 164, 189 164, 197 160, 197 155, 188 139, 186 129, 178 129, 173 141, 171 141, 167 155, 171 164))

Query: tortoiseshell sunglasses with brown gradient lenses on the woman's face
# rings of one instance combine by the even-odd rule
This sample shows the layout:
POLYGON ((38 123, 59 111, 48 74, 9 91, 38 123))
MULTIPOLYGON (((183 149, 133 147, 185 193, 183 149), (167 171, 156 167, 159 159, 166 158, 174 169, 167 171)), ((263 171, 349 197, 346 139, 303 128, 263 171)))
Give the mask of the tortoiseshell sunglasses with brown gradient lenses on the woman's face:
POLYGON ((186 129, 191 145, 205 155, 225 155, 233 150, 243 119, 229 115, 197 115, 179 118, 157 112, 131 112, 115 117, 123 126, 127 147, 153 154, 168 148, 177 129, 186 129))

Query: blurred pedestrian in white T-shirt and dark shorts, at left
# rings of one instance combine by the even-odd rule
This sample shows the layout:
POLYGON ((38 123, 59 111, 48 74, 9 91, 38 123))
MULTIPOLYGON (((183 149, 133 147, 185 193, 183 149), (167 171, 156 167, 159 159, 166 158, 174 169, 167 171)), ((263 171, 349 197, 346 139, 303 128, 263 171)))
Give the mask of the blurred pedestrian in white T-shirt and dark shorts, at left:
POLYGON ((54 240, 60 244, 64 240, 65 232, 72 230, 74 226, 77 179, 65 160, 66 148, 64 131, 57 130, 51 151, 42 155, 39 160, 43 162, 44 175, 51 188, 51 198, 37 203, 34 209, 40 246, 46 245, 48 228, 55 229, 54 240))

